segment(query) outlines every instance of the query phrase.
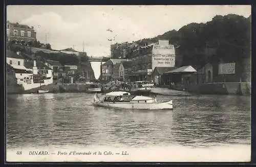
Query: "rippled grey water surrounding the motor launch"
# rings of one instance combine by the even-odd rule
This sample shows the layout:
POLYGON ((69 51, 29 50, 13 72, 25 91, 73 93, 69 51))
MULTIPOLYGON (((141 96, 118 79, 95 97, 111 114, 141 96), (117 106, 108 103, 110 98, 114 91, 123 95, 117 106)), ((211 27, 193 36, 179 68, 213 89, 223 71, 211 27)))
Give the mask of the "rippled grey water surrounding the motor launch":
POLYGON ((250 97, 160 96, 173 110, 95 107, 94 94, 7 96, 7 148, 250 145, 250 97))

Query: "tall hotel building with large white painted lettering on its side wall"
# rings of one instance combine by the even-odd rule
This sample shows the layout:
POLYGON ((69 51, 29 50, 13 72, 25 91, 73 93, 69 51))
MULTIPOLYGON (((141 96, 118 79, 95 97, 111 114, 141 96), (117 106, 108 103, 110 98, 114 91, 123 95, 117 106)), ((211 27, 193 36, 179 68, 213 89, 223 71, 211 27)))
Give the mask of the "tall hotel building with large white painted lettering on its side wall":
POLYGON ((131 80, 154 80, 151 74, 156 67, 175 67, 175 47, 168 40, 133 50, 131 80))

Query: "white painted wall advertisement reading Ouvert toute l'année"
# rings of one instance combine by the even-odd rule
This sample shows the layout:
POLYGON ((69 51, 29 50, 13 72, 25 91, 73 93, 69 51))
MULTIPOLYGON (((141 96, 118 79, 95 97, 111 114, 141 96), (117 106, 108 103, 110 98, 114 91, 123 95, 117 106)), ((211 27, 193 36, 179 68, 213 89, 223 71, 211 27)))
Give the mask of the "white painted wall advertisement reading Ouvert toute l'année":
POLYGON ((174 45, 155 44, 152 50, 152 70, 155 67, 174 67, 175 47, 174 45))

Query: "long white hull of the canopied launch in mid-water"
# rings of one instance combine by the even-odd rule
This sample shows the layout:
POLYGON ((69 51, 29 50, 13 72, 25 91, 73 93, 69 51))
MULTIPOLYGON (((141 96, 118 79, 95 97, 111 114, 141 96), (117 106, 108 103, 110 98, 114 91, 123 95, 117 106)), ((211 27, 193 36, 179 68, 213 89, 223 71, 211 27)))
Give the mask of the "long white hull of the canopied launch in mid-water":
POLYGON ((126 108, 126 109, 173 109, 173 101, 154 103, 131 103, 131 102, 94 102, 96 106, 126 108))

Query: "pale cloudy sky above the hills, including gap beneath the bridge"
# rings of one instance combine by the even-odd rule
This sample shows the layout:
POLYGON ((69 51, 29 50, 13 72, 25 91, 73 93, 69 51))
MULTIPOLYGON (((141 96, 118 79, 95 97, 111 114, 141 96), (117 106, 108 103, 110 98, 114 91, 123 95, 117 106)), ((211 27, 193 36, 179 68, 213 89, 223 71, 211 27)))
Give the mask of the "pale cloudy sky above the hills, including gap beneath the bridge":
MULTIPOLYGON (((248 17, 251 6, 11 5, 7 6, 6 13, 10 22, 34 26, 37 40, 47 41, 53 49, 72 47, 86 51, 89 56, 101 57, 110 55, 113 43, 153 38, 170 30, 178 31, 191 22, 205 23, 215 15, 248 17)), ((92 66, 99 70, 99 64, 93 63, 92 66)), ((99 72, 96 73, 98 76, 99 72)))

